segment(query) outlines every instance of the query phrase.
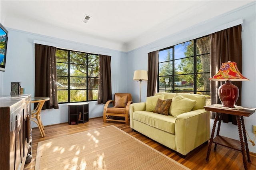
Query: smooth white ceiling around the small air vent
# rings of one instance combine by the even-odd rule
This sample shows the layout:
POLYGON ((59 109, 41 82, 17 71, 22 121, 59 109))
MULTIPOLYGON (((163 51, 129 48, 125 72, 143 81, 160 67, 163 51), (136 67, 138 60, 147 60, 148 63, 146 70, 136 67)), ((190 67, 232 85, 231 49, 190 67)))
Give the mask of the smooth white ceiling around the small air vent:
POLYGON ((151 42, 158 40, 167 29, 178 32, 251 2, 255 0, 1 0, 0 22, 36 34, 45 34, 47 27, 129 45, 148 35, 151 42), (92 16, 87 24, 82 22, 85 14, 92 16))

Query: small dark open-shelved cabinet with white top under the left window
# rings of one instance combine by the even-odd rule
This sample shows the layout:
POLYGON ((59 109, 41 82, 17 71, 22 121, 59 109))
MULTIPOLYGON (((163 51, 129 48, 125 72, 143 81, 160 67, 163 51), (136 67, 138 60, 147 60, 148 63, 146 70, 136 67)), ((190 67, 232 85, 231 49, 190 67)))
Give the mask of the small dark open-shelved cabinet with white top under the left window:
POLYGON ((68 103, 68 123, 77 125, 89 121, 89 102, 68 103))

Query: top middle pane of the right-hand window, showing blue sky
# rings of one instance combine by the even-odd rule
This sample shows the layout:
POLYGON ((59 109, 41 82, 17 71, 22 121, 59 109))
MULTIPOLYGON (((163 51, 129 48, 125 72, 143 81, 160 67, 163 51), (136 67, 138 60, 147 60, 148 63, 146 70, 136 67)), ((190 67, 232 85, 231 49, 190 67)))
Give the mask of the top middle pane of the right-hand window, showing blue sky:
POLYGON ((194 55, 193 41, 180 43, 180 44, 174 46, 174 59, 191 57, 193 55, 194 55))

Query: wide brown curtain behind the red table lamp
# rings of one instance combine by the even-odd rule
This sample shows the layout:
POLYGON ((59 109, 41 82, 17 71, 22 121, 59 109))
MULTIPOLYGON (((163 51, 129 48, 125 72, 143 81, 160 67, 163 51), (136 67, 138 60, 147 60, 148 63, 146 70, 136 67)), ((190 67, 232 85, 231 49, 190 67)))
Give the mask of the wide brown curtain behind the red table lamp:
MULTIPOLYGON (((221 63, 234 61, 237 63, 239 71, 242 73, 242 26, 234 26, 220 32, 210 34, 211 39, 211 77, 215 75, 220 69, 221 63)), ((218 97, 218 87, 225 82, 211 81, 211 103, 220 104, 218 97)), ((236 105, 241 106, 241 81, 232 81, 239 89, 239 98, 236 105)), ((214 119, 215 113, 211 114, 214 119)), ((224 123, 232 122, 236 125, 236 117, 232 115, 223 114, 222 121, 224 123)))

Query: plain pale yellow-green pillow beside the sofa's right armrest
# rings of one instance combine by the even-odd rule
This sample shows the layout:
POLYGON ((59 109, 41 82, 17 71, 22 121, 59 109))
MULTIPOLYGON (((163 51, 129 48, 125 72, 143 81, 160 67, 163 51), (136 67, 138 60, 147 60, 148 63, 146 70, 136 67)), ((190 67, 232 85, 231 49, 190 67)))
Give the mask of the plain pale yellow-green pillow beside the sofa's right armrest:
POLYGON ((172 104, 170 108, 171 115, 176 117, 182 113, 189 112, 195 104, 195 100, 188 99, 176 93, 175 96, 172 98, 172 104))

